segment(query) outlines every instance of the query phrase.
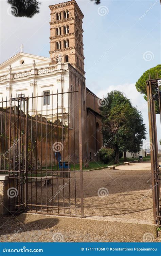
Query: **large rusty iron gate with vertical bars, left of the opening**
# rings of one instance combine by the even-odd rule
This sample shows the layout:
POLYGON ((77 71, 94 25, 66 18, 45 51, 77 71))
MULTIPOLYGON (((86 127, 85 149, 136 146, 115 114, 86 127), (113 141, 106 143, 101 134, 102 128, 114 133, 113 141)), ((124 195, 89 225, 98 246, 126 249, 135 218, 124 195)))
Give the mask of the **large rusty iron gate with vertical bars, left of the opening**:
POLYGON ((81 86, 0 104, 9 211, 84 217, 81 86))

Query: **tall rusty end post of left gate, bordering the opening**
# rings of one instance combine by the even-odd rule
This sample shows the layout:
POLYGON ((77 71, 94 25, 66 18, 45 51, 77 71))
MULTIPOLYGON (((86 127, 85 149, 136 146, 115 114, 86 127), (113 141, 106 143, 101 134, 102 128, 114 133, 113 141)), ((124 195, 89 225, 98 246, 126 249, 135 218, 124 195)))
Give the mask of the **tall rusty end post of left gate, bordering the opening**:
POLYGON ((78 86, 78 111, 79 111, 79 174, 80 174, 80 197, 81 197, 81 217, 84 217, 83 203, 83 163, 82 163, 82 87, 78 86))

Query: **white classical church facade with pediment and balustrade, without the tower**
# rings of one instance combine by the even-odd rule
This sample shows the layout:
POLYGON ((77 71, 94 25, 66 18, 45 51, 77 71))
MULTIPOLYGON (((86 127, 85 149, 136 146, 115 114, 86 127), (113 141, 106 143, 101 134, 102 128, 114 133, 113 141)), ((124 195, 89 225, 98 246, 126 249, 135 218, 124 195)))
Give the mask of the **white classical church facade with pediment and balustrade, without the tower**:
MULTIPOLYGON (((67 92, 69 88, 69 63, 59 62, 51 65, 50 58, 40 57, 36 55, 18 53, 11 59, 0 65, 0 101, 9 100, 14 97, 35 97, 36 95, 44 95, 41 109, 41 102, 36 102, 33 98, 33 104, 29 101, 29 114, 40 114, 48 109, 48 120, 51 117, 51 94, 67 92), (49 96, 48 96, 49 95, 49 96), (37 104, 37 106, 36 106, 37 104)), ((62 99, 58 96, 58 118, 61 120, 62 107, 63 112, 68 113, 67 97, 62 99), (62 106, 63 104, 63 106, 62 106)), ((10 103, 8 102, 7 105, 10 103)), ((57 102, 53 102, 53 121, 54 115, 57 114, 57 102)))

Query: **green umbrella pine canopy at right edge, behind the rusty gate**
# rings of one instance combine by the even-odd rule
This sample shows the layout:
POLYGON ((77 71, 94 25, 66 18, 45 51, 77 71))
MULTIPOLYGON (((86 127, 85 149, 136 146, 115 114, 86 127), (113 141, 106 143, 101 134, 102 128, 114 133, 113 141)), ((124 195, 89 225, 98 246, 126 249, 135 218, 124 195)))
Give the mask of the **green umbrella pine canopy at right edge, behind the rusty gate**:
MULTIPOLYGON (((149 74, 151 79, 157 78, 157 73, 158 76, 161 77, 161 65, 157 65, 154 68, 148 69, 145 71, 142 76, 139 78, 139 80, 136 82, 136 88, 137 90, 141 93, 144 94, 144 99, 147 101, 147 92, 146 92, 146 81, 149 79, 149 74)), ((158 95, 156 89, 153 88, 153 94, 158 95)), ((155 99, 156 103, 156 113, 159 113, 159 101, 158 98, 155 99)))

